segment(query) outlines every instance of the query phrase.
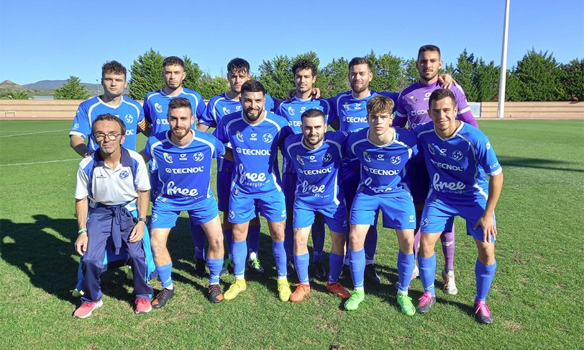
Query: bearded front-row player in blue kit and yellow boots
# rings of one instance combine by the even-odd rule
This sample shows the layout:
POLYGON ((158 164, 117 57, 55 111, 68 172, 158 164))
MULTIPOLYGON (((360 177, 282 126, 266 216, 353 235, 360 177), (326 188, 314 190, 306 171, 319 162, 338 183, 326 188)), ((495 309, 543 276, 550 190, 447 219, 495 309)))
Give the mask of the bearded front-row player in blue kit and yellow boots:
POLYGON ((225 292, 226 300, 246 289, 246 236, 249 221, 255 217, 256 204, 268 221, 272 237, 278 295, 282 301, 288 301, 291 295, 284 250, 286 203, 277 167, 277 149, 291 131, 286 120, 264 109, 265 93, 260 82, 245 82, 241 86, 242 111, 223 117, 215 129, 217 138, 230 144, 235 158, 228 220, 233 228, 231 253, 236 280, 225 292))

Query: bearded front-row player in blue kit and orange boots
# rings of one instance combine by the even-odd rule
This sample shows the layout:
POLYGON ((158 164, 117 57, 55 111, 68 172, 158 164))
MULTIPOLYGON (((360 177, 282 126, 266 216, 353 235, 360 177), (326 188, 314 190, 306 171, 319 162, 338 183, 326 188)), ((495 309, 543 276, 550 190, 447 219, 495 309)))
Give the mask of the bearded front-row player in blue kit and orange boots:
POLYGON ((290 296, 291 302, 302 302, 310 293, 308 278, 308 235, 315 214, 320 213, 331 230, 332 248, 329 257, 327 290, 342 298, 349 292, 338 282, 345 259, 347 208, 342 187, 338 184, 338 169, 343 159, 344 131, 327 131, 325 113, 308 109, 302 113, 302 133, 289 136, 284 150, 295 176, 293 202, 294 266, 300 284, 290 296))

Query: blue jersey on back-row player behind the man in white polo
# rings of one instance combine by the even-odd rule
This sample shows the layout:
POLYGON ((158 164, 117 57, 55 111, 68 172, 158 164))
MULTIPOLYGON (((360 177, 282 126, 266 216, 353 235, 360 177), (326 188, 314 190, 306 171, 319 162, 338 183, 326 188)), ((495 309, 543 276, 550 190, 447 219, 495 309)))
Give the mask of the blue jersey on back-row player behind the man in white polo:
POLYGON ((136 136, 146 129, 147 122, 144 119, 142 106, 138 102, 123 95, 117 107, 109 106, 99 96, 81 102, 75 118, 73 118, 73 126, 69 135, 80 136, 83 139, 89 136, 87 147, 95 151, 95 149, 98 149, 98 144, 93 139, 93 135, 91 135, 91 125, 93 125, 93 120, 98 118, 98 116, 107 113, 124 121, 126 125, 126 139, 122 143, 122 146, 135 151, 136 136))

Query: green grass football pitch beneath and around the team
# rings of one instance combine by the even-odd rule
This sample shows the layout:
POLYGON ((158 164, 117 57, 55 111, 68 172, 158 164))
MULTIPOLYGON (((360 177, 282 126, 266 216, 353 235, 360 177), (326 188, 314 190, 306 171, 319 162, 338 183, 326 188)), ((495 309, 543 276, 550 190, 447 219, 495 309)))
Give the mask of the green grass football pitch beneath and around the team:
MULTIPOLYGON (((118 269, 102 276, 104 306, 87 320, 75 320, 78 301, 69 291, 79 261, 73 250, 79 158, 69 148, 70 127, 69 121, 0 121, 0 349, 584 347, 584 120, 480 122, 505 176, 491 326, 471 315, 476 248, 462 221, 455 255, 458 295, 437 291, 429 314, 407 317, 396 306, 398 248, 387 229, 380 228, 376 255, 382 284, 366 286, 358 311, 343 311, 324 282, 312 282, 313 293, 301 304, 280 302, 265 222, 265 277, 251 277, 237 299, 213 305, 206 280, 192 274, 185 217, 170 237, 176 295, 165 308, 134 315, 131 282, 118 269)), ((437 257, 441 266, 441 252, 437 257)), ((222 283, 231 282, 228 277, 222 283)), ((341 282, 352 286, 350 277, 341 282)), ((159 282, 153 285, 160 289, 159 282)), ((410 295, 421 295, 419 280, 410 295)))

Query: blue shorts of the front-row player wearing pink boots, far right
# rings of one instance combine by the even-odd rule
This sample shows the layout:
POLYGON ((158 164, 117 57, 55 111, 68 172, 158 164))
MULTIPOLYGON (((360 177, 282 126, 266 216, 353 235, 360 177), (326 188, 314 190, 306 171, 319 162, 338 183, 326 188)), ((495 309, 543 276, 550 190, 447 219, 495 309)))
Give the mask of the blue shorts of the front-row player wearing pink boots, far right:
MULTIPOLYGON (((475 224, 484 213, 484 208, 486 208, 486 198, 484 197, 448 199, 432 191, 423 207, 420 230, 422 233, 446 231, 452 228, 454 217, 458 215, 466 220, 466 234, 482 241, 482 227, 479 226, 475 230, 475 224)), ((493 220, 495 220, 495 214, 493 214, 493 220)), ((491 239, 491 242, 494 241, 491 239)))

